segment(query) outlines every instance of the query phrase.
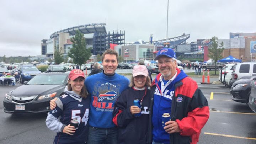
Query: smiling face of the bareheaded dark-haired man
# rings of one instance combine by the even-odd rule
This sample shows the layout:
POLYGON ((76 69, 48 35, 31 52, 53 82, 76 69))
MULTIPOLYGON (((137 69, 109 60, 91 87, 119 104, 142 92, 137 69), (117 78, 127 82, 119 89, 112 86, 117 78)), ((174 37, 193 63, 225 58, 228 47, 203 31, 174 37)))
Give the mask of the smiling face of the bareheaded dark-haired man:
POLYGON ((118 65, 116 55, 105 54, 102 65, 103 65, 105 74, 107 74, 107 75, 114 74, 117 69, 117 65, 118 65))

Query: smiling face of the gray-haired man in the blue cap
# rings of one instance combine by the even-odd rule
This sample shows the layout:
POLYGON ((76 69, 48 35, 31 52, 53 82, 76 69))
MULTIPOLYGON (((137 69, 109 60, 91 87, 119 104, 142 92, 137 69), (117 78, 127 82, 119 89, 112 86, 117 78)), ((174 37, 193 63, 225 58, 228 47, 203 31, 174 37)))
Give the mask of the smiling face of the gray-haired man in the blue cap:
POLYGON ((161 56, 158 59, 158 68, 165 80, 170 80, 176 73, 177 62, 172 58, 161 56))

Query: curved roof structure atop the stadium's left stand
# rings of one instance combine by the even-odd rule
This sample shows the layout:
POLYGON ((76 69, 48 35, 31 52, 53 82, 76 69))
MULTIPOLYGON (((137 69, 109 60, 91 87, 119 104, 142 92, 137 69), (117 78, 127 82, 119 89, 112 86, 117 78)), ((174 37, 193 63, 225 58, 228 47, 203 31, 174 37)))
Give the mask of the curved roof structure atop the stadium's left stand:
POLYGON ((76 30, 79 30, 83 34, 90 34, 94 32, 107 33, 105 28, 106 23, 92 23, 86 25, 79 25, 75 27, 66 28, 57 32, 54 32, 50 38, 58 37, 59 33, 69 33, 71 36, 76 34, 76 30))

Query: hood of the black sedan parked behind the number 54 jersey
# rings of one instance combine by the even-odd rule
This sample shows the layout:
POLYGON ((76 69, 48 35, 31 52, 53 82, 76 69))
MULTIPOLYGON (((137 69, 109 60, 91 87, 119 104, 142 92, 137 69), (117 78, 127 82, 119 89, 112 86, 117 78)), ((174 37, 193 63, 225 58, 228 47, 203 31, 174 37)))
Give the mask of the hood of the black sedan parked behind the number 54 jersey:
POLYGON ((9 92, 12 96, 34 96, 50 94, 63 85, 22 85, 9 92))

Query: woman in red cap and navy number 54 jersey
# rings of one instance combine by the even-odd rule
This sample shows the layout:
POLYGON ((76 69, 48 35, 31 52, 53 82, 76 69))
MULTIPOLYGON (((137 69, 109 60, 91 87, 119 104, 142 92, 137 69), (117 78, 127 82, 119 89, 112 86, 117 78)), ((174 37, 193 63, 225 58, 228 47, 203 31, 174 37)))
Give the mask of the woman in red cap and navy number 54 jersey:
POLYGON ((82 70, 72 70, 65 94, 57 98, 55 109, 47 115, 47 127, 57 133, 54 144, 84 144, 87 140, 90 97, 84 80, 82 70))

